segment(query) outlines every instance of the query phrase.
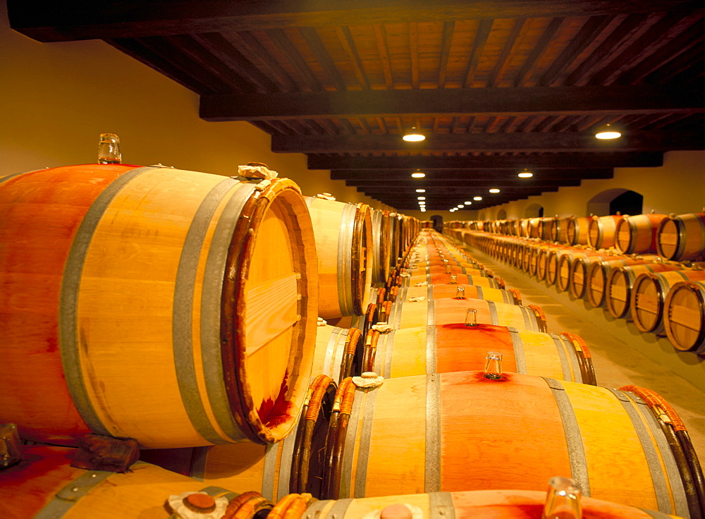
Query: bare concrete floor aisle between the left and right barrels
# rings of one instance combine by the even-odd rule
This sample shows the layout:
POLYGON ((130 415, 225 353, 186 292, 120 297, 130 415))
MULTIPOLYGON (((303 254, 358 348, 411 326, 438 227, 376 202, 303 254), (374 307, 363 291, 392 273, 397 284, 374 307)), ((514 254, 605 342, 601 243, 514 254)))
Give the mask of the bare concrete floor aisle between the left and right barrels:
POLYGON ((705 466, 705 377, 698 371, 703 369, 705 362, 701 358, 689 353, 685 362, 696 365, 682 365, 685 362, 678 359, 667 339, 654 344, 656 339, 651 336, 645 338, 650 343, 640 343, 635 332, 627 330, 629 324, 624 319, 613 319, 606 311, 569 298, 515 267, 449 239, 503 278, 507 288, 520 291, 522 304, 541 306, 548 321, 548 331, 556 334, 570 331, 581 336, 591 350, 599 386, 618 388, 634 384, 663 396, 685 423, 701 465, 705 466), (687 377, 702 383, 693 384, 677 374, 682 367, 690 370, 686 371, 687 377))

